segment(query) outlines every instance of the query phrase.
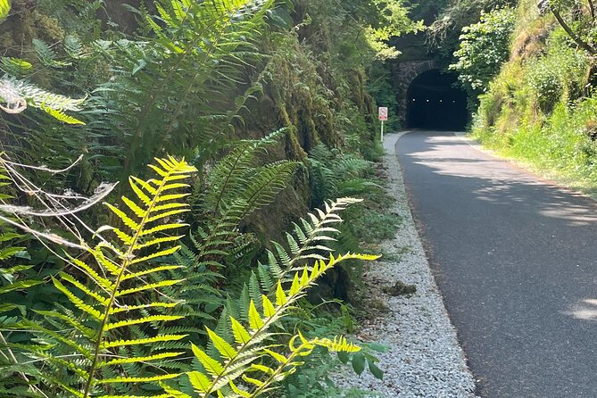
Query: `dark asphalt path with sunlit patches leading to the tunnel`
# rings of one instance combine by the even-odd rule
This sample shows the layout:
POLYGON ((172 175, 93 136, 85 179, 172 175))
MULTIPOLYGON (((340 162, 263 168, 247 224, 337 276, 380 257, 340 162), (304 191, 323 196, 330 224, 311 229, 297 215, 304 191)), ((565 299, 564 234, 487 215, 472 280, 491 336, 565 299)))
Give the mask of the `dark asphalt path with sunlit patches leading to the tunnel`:
POLYGON ((396 145, 482 397, 597 397, 597 204, 451 133, 396 145))

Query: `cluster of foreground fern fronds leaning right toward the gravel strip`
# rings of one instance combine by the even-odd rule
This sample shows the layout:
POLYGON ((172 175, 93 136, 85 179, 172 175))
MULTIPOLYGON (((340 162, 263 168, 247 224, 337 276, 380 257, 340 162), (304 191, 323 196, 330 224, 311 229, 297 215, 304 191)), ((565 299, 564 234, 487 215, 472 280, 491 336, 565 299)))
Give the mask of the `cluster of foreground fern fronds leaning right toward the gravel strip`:
MULTIPOLYGON (((330 351, 358 351, 357 347, 347 344, 343 338, 335 341, 306 340, 300 334, 291 338, 287 354, 276 352, 277 344, 269 343, 274 336, 269 329, 286 317, 306 290, 328 269, 345 260, 377 259, 377 256, 352 253, 337 257, 321 254, 329 249, 320 243, 333 240, 330 235, 336 233, 336 228, 331 225, 341 221, 337 212, 356 202, 359 201, 344 198, 336 203, 326 203, 324 211, 318 210, 310 214, 309 220, 302 220, 302 227, 295 224, 296 237, 288 236, 290 252, 277 245, 277 254, 269 252, 269 264, 260 264, 259 277, 253 274, 239 299, 228 300, 217 328, 206 329, 209 337, 207 348, 193 347, 195 357, 203 367, 202 370, 187 373, 195 393, 201 397, 211 394, 258 396, 268 391, 274 381, 293 372, 300 364, 295 361, 296 358, 308 355, 316 345, 324 345, 330 351), (308 261, 314 261, 313 265, 296 265, 308 261), (295 346, 297 339, 302 343, 295 346), (265 358, 274 361, 276 366, 266 366, 265 358), (249 376, 255 373, 258 376, 249 376), (250 392, 239 388, 239 378, 245 387, 251 389, 250 392)), ((189 396, 176 390, 167 391, 189 396)))

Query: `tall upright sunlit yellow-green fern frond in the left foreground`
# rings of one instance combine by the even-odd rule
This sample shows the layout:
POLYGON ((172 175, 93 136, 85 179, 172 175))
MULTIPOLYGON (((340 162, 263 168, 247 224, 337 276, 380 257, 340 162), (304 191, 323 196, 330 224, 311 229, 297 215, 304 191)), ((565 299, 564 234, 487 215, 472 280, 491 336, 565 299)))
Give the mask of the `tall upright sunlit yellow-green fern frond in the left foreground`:
POLYGON ((38 361, 45 361, 54 369, 42 378, 55 388, 56 394, 126 397, 130 396, 131 389, 139 390, 142 384, 155 384, 178 376, 159 367, 143 376, 137 373, 140 364, 172 361, 184 352, 155 350, 152 344, 177 342, 186 336, 151 334, 151 329, 147 328, 150 336, 138 336, 138 327, 181 318, 166 312, 177 306, 178 301, 151 299, 152 292, 181 282, 160 278, 160 273, 175 266, 160 266, 153 261, 170 256, 180 248, 171 246, 174 240, 163 233, 184 226, 168 220, 188 211, 187 205, 179 202, 187 194, 178 191, 187 187, 184 180, 195 168, 172 157, 156 159, 156 162, 149 166, 156 178, 129 179, 136 198, 122 197, 126 211, 107 204, 123 227, 99 228, 97 234, 112 231, 120 245, 103 241, 91 247, 82 243, 87 257, 91 257, 95 265, 82 258, 70 257, 70 261, 87 280, 65 272, 52 278, 55 288, 76 309, 75 313, 37 311, 54 328, 34 321, 21 322, 21 328, 28 328, 30 333, 51 344, 49 350, 36 345, 26 349, 38 361), (69 351, 70 355, 62 356, 69 351), (64 377, 67 374, 69 377, 64 377))

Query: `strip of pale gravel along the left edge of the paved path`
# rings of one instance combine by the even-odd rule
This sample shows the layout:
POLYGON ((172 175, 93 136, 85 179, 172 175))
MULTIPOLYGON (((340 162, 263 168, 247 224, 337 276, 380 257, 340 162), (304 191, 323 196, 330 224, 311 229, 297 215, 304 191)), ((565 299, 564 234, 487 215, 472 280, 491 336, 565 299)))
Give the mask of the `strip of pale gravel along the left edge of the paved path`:
POLYGON ((384 380, 368 371, 356 377, 350 369, 334 379, 338 386, 369 390, 385 398, 475 397, 474 378, 410 213, 402 170, 394 154, 394 145, 402 134, 387 135, 384 140, 388 191, 397 198, 393 211, 402 217, 402 227, 394 240, 382 245, 384 253, 400 253, 400 260, 375 262, 365 273, 367 294, 386 303, 389 311, 382 318, 361 325, 357 336, 363 342, 388 347, 387 352, 377 355, 377 365, 385 371, 384 380), (381 291, 381 287, 394 286, 397 280, 417 286, 417 293, 392 296, 381 291))

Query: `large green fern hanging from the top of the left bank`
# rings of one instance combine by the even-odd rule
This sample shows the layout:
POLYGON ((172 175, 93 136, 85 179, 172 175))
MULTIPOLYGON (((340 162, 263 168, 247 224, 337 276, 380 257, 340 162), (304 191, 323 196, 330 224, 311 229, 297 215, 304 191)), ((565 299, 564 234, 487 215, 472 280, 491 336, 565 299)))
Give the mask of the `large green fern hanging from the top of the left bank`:
POLYGON ((196 150, 203 159, 220 149, 246 99, 230 112, 220 110, 230 109, 230 98, 238 95, 243 68, 261 58, 253 40, 273 4, 160 0, 157 15, 144 15, 152 35, 130 42, 145 43, 143 48, 124 53, 124 59, 111 49, 104 52, 111 63, 120 62, 97 92, 116 105, 104 128, 116 131, 128 149, 125 172, 162 148, 196 150))

